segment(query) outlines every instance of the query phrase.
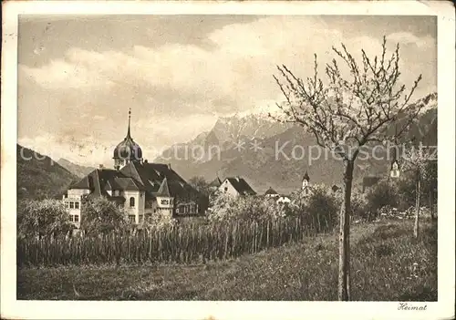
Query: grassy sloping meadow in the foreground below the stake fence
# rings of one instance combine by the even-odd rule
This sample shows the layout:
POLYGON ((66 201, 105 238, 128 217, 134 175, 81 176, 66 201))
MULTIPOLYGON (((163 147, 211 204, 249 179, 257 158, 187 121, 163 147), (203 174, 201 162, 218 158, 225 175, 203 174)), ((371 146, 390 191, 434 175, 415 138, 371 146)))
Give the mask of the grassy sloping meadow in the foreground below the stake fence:
MULTIPOLYGON (((437 226, 352 227, 352 300, 437 301, 437 226)), ((17 298, 38 300, 337 300, 337 237, 322 234, 203 265, 19 269, 17 298)))

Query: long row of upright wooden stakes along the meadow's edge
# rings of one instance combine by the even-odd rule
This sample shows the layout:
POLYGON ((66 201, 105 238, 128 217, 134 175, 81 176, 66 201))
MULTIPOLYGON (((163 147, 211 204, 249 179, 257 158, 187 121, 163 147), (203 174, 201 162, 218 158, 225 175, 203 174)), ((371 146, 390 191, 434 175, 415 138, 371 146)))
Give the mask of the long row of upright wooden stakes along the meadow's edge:
POLYGON ((287 218, 274 222, 192 224, 134 235, 18 239, 17 264, 202 263, 257 253, 313 234, 316 228, 312 224, 287 218))

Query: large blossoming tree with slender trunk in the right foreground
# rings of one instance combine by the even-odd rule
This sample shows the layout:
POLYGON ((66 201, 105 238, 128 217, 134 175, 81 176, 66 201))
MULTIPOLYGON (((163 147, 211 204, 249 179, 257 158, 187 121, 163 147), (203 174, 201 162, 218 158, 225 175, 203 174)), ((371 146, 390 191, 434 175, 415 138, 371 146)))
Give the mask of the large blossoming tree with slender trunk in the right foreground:
POLYGON ((399 44, 387 57, 386 37, 380 56, 368 57, 361 50, 362 63, 348 52, 347 47, 333 46, 335 57, 325 67, 326 81, 318 75, 314 63, 314 75, 303 80, 287 67, 277 67, 275 81, 285 96, 285 102, 277 104, 281 116, 273 116, 281 122, 303 126, 313 133, 316 143, 328 150, 344 164, 344 201, 340 211, 338 299, 347 301, 349 296, 349 214, 355 160, 362 147, 372 143, 396 140, 417 119, 423 104, 409 104, 421 76, 406 92, 399 83, 399 44), (337 60, 347 67, 343 75, 337 60), (280 79, 279 79, 280 77, 280 79), (395 132, 390 125, 400 119, 395 132))

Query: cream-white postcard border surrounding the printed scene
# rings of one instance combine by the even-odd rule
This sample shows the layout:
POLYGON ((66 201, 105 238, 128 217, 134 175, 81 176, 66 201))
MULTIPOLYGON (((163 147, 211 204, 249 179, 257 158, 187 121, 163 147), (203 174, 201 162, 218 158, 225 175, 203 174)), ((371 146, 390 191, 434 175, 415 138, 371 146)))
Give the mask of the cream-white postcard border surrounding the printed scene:
MULTIPOLYGON (((3 3, 1 153, 1 316, 47 319, 376 319, 454 318, 455 21, 451 2, 121 2, 3 3), (438 15, 439 301, 426 311, 398 311, 396 302, 74 302, 16 300, 17 15, 438 15), (11 188, 11 186, 15 186, 11 188)), ((336 290, 336 289, 335 289, 336 290)), ((422 305, 422 304, 421 304, 422 305)))

